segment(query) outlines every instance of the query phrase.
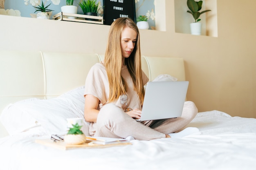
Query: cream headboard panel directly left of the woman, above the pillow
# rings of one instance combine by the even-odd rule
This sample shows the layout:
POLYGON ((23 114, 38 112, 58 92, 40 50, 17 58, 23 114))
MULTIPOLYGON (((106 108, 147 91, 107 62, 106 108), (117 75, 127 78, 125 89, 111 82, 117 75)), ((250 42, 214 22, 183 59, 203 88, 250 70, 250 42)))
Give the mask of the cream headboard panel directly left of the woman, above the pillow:
POLYGON ((73 88, 83 86, 90 68, 100 58, 97 54, 44 53, 45 96, 56 97, 73 88))

